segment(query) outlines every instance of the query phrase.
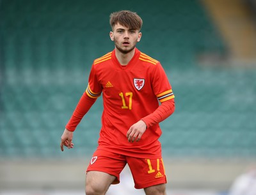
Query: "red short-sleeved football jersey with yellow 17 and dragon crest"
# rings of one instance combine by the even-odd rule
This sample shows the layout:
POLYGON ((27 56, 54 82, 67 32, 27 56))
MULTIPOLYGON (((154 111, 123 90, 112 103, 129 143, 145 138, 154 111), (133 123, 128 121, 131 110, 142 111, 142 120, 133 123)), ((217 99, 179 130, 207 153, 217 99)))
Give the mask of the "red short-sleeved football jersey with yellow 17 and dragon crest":
POLYGON ((122 66, 115 50, 109 52, 93 62, 86 89, 90 98, 101 93, 104 110, 98 148, 133 157, 161 157, 159 124, 148 127, 138 142, 131 143, 126 136, 132 124, 154 112, 159 102, 174 98, 160 62, 136 48, 129 64, 122 66))

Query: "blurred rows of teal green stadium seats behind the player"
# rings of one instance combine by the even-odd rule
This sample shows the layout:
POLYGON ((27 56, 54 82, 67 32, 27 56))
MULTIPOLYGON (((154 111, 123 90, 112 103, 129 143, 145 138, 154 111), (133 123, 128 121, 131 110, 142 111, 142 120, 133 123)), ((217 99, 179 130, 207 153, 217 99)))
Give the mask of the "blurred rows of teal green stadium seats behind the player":
MULTIPOLYGON (((132 2, 144 19, 138 48, 161 61, 176 97, 175 113, 161 124, 164 155, 256 156, 256 71, 199 66, 202 52, 226 50, 198 1, 132 2)), ((0 5, 0 157, 61 157, 60 136, 93 59, 113 49, 109 13, 125 8, 105 1, 0 5)), ((101 113, 98 99, 70 155, 92 154, 101 113)))

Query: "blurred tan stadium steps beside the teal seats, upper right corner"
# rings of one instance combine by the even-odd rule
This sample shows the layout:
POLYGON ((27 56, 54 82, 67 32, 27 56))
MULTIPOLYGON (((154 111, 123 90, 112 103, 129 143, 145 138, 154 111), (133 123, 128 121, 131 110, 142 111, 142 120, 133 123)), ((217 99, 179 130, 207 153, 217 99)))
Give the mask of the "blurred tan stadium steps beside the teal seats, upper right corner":
POLYGON ((202 0, 202 2, 227 41, 232 60, 255 63, 256 25, 252 10, 246 1, 202 0))

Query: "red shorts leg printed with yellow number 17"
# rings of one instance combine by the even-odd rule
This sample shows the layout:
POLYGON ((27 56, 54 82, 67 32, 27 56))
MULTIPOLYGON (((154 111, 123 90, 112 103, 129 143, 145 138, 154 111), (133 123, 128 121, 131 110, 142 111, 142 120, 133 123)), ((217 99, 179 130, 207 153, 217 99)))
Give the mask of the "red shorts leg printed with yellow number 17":
POLYGON ((166 184, 163 159, 140 159, 127 157, 136 189, 166 184))

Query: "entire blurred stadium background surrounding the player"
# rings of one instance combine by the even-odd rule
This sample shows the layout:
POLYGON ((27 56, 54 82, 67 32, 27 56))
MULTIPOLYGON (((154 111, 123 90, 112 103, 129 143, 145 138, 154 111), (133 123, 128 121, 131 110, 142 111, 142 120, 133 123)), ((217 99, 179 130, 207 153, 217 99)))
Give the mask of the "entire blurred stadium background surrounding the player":
MULTIPOLYGON (((161 123, 168 194, 231 194, 256 168, 255 0, 0 0, 0 194, 84 194, 102 99, 74 148, 61 152, 60 137, 93 59, 114 48, 118 10, 143 18, 138 48, 161 62, 175 93, 161 123)), ((108 194, 143 194, 129 170, 121 182, 108 194)))

